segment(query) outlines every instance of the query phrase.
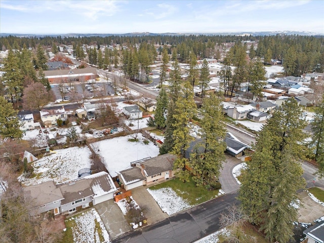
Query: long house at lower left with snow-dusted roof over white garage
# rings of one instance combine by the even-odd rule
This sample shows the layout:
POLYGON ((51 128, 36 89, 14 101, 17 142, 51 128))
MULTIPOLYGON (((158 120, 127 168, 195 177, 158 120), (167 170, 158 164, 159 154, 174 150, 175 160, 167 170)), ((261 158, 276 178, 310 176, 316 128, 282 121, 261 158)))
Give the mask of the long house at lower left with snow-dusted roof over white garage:
POLYGON ((80 177, 62 184, 47 181, 24 188, 25 197, 33 201, 35 213, 54 211, 54 215, 73 213, 113 199, 116 187, 107 172, 80 177))

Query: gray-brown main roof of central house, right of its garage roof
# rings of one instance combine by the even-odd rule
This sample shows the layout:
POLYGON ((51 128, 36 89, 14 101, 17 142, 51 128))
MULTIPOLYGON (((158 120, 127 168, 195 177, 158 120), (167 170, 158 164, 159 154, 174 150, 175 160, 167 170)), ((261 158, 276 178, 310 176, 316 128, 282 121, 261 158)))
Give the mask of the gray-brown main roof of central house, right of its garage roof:
POLYGON ((147 176, 152 176, 161 172, 172 170, 175 159, 175 155, 166 153, 147 159, 141 163, 141 165, 144 166, 147 176))

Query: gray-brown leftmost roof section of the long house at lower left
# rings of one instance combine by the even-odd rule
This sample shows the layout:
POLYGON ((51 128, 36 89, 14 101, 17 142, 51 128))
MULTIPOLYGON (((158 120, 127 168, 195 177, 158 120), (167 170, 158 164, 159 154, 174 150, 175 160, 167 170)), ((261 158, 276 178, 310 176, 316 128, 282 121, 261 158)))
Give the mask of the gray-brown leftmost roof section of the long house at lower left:
POLYGON ((34 186, 28 186, 24 189, 24 194, 29 197, 35 207, 43 206, 53 201, 62 200, 63 194, 54 181, 46 181, 34 186))

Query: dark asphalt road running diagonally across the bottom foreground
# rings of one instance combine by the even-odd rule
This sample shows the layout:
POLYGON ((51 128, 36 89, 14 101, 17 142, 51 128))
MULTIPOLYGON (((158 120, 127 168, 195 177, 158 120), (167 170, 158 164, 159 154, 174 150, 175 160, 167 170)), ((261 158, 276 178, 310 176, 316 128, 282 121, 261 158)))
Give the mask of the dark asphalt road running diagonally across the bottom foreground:
POLYGON ((226 194, 154 225, 131 231, 112 240, 113 243, 189 243, 218 231, 219 216, 232 205, 236 193, 226 194))

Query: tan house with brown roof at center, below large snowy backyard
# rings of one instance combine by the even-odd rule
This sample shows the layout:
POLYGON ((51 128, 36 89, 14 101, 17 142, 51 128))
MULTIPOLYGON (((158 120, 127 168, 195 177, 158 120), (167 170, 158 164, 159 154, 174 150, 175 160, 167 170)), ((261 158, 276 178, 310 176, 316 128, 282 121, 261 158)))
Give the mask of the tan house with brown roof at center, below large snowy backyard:
POLYGON ((167 180, 174 176, 173 164, 176 156, 163 154, 157 157, 143 159, 131 163, 132 167, 117 172, 119 181, 126 190, 142 185, 149 185, 155 181, 167 180))

